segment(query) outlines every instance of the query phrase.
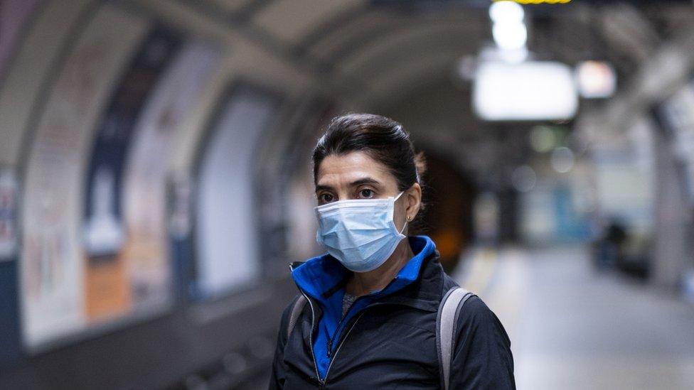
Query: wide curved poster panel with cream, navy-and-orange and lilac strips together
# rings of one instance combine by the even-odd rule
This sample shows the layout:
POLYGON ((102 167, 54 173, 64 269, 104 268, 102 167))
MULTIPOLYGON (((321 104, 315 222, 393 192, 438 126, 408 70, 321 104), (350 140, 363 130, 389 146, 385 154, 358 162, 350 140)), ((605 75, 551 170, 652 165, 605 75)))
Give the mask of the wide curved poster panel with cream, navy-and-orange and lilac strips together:
POLYGON ((105 5, 60 71, 26 163, 23 342, 45 350, 169 310, 171 144, 218 45, 105 5))

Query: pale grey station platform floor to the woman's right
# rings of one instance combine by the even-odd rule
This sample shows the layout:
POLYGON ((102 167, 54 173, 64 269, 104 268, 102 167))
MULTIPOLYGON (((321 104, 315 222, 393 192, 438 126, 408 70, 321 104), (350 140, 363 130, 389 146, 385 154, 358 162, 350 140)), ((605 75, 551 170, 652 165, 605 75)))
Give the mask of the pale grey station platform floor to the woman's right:
POLYGON ((511 337, 518 389, 692 389, 694 306, 587 247, 470 251, 456 277, 511 337))

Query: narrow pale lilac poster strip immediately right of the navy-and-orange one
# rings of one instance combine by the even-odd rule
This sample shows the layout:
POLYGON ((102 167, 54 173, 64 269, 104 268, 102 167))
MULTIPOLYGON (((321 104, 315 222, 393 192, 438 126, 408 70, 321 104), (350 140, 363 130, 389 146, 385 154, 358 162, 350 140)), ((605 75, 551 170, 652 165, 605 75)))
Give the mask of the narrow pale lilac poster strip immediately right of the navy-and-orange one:
POLYGON ((133 310, 171 301, 173 267, 166 220, 170 151, 219 60, 220 52, 211 43, 183 43, 135 126, 124 171, 127 239, 120 255, 128 264, 133 310))

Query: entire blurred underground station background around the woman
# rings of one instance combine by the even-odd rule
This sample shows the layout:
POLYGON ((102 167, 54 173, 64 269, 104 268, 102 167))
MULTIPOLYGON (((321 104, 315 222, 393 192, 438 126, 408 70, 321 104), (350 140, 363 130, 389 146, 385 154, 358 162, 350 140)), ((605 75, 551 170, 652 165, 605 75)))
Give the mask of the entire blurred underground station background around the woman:
POLYGON ((519 389, 694 388, 691 0, 1 0, 0 388, 266 388, 349 111, 519 389))

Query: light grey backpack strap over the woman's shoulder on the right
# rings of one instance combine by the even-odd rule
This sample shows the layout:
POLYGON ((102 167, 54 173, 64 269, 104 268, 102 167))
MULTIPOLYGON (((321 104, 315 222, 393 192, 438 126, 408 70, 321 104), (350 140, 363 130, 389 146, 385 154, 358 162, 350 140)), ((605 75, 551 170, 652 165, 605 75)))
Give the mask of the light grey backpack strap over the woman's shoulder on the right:
POLYGON ((451 359, 453 355, 456 319, 463 304, 474 294, 462 287, 451 288, 439 305, 436 317, 436 347, 439 353, 439 372, 443 389, 448 390, 451 377, 451 359))

